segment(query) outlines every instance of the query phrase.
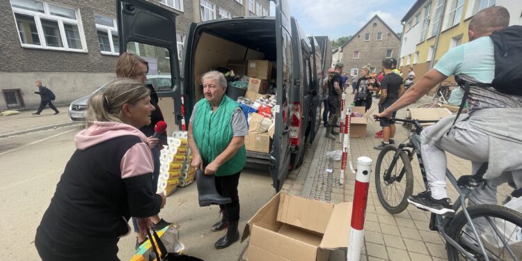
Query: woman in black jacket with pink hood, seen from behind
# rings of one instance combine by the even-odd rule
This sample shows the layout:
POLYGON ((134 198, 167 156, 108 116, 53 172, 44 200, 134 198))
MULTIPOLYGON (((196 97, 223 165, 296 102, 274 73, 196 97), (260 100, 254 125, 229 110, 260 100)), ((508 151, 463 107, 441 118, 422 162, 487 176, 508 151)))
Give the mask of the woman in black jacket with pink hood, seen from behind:
POLYGON ((89 100, 86 129, 35 235, 42 260, 118 260, 118 240, 128 221, 140 232, 166 202, 152 190, 154 163, 140 127, 150 125, 150 91, 134 79, 118 79, 89 100))

